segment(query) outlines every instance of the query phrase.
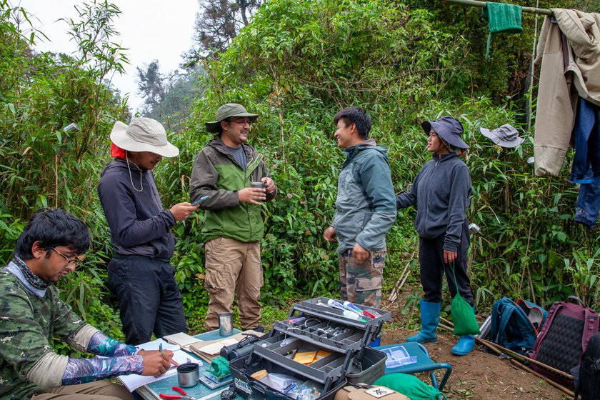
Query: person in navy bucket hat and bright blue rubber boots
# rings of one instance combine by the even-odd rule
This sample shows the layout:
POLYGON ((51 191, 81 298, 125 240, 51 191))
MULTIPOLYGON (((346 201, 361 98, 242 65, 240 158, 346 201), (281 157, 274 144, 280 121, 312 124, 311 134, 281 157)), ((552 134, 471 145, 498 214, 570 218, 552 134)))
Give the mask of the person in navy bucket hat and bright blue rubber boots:
MULTIPOLYGON (((459 158, 469 145, 461 139, 461 123, 449 116, 424 121, 421 126, 429 136, 427 151, 432 153, 432 159, 416 175, 409 191, 396 196, 396 207, 416 206, 414 227, 419 234, 424 298, 421 299, 421 331, 406 340, 425 343, 437 340, 444 273, 452 297, 458 290, 471 306, 474 303, 466 271, 466 250, 469 249, 466 208, 471 195, 471 175, 459 158), (458 288, 452 276, 453 264, 458 288)), ((460 336, 451 352, 466 356, 474 346, 473 335, 460 336)))

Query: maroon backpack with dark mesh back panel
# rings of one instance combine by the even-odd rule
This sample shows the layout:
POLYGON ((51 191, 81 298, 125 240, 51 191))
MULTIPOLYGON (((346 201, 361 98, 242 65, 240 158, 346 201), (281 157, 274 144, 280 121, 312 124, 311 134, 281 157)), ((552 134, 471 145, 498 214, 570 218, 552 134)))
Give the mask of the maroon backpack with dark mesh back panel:
MULTIPOLYGON (((598 332, 598 314, 585 306, 576 296, 556 301, 537 337, 529 358, 571 374, 571 369, 581 363, 588 341, 598 332), (571 302, 571 301, 574 301, 571 302)), ((573 381, 537 364, 531 368, 550 379, 573 386, 573 381)))

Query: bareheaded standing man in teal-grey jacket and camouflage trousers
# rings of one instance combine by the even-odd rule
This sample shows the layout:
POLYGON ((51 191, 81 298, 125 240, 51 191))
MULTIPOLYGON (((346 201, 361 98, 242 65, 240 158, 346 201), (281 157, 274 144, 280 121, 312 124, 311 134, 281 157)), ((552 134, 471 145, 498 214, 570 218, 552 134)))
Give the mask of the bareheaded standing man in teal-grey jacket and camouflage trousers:
POLYGON ((334 124, 346 161, 339 174, 334 222, 323 237, 337 237, 340 298, 379 307, 386 233, 396 220, 387 148, 367 139, 371 119, 358 107, 339 111, 334 124))

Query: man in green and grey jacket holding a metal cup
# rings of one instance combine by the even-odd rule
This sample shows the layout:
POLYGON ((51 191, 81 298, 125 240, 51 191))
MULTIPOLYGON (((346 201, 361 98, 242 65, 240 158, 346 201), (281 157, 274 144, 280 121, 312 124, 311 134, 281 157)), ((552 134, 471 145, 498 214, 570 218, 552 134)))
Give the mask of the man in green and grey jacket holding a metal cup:
POLYGON ((261 319, 261 201, 273 199, 277 187, 262 154, 246 144, 257 117, 240 104, 219 107, 216 121, 206 122, 206 130, 216 136, 196 156, 191 172, 192 201, 205 198, 200 207, 206 210, 202 241, 208 329, 219 327, 219 314, 231 312, 234 295, 242 329, 256 329, 261 319), (259 182, 262 188, 256 187, 259 182))

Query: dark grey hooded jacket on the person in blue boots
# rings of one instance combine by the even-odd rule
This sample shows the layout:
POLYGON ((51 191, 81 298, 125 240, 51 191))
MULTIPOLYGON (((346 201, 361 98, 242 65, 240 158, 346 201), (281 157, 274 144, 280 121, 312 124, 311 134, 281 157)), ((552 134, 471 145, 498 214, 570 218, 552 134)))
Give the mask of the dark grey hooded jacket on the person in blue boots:
POLYGON ((445 235, 444 249, 457 251, 466 225, 471 194, 471 175, 456 154, 433 154, 409 191, 396 196, 396 206, 416 206, 414 227, 419 236, 434 239, 445 235))

